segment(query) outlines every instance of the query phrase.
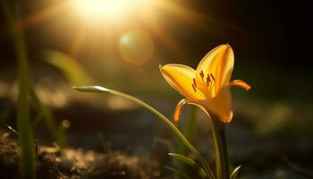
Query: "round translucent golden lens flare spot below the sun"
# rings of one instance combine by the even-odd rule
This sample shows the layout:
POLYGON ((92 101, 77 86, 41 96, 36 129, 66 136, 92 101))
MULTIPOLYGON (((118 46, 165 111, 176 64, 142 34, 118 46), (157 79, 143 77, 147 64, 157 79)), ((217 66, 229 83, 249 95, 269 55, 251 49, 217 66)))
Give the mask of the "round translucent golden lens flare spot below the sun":
POLYGON ((154 52, 151 36, 143 30, 131 30, 120 38, 119 50, 123 60, 130 64, 147 63, 154 52))

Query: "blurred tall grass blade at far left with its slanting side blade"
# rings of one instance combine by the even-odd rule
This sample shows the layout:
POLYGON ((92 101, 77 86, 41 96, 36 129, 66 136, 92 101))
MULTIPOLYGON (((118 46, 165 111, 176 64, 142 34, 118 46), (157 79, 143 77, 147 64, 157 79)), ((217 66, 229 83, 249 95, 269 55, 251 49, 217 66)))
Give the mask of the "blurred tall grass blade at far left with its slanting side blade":
MULTIPOLYGON (((21 24, 15 19, 18 16, 13 14, 10 6, 4 0, 1 2, 4 18, 6 20, 8 30, 13 38, 13 47, 17 59, 18 72, 18 98, 17 98, 17 131, 19 136, 19 144, 21 147, 21 178, 36 178, 36 160, 34 149, 33 129, 30 124, 30 101, 34 102, 38 119, 42 119, 47 133, 50 135, 51 141, 56 141, 59 145, 64 145, 64 132, 62 128, 58 128, 50 109, 45 106, 32 87, 30 77, 30 67, 28 64, 27 49, 21 30, 21 24)), ((37 144, 36 144, 37 145, 37 144)))

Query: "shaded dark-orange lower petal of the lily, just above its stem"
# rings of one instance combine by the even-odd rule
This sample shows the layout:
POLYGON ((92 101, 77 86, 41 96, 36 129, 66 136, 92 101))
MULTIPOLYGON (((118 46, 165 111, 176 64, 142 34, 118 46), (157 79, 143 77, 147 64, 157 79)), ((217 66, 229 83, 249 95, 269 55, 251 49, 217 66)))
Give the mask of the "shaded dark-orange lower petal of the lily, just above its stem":
POLYGON ((207 113, 214 113, 224 123, 231 122, 233 118, 232 95, 228 86, 222 87, 215 98, 201 100, 200 103, 206 108, 207 113))

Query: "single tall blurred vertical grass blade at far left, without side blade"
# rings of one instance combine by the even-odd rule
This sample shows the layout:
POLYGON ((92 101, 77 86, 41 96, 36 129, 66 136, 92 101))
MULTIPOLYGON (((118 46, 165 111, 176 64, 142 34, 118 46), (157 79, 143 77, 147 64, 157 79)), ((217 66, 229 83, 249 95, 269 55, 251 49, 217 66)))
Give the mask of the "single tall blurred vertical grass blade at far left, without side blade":
POLYGON ((13 46, 18 60, 18 99, 17 99, 17 130, 21 147, 20 170, 21 178, 36 178, 35 150, 32 143, 32 129, 30 126, 30 72, 26 55, 26 47, 21 27, 14 20, 13 13, 3 0, 2 6, 8 28, 13 38, 13 46))

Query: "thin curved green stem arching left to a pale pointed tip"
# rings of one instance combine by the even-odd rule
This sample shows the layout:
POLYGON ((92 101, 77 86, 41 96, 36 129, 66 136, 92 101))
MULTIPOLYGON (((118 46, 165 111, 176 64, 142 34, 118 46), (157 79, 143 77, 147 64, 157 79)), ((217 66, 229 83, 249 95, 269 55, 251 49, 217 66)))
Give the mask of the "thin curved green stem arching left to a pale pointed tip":
POLYGON ((177 129, 177 127, 167 117, 165 117, 165 115, 162 115, 160 112, 158 112, 157 109, 149 106, 147 103, 141 101, 139 98, 134 98, 131 95, 128 95, 128 94, 125 94, 123 92, 116 91, 116 90, 108 90, 108 89, 103 88, 103 87, 88 87, 88 86, 87 87, 73 87, 73 89, 84 91, 84 92, 107 92, 107 93, 111 93, 111 94, 114 94, 114 95, 117 95, 117 96, 120 96, 123 98, 130 99, 130 100, 140 104, 140 106, 145 107, 150 112, 157 115, 163 122, 165 122, 165 124, 167 124, 167 126, 169 126, 173 130, 173 132, 182 140, 182 142, 186 145, 186 147, 188 149, 190 149, 192 154, 199 160, 199 163, 201 164, 201 166, 203 166, 204 169, 206 170, 208 177, 211 179, 216 179, 213 171, 208 166, 206 160, 201 157, 201 155, 199 154, 199 151, 197 149, 195 149, 190 144, 190 142, 185 138, 185 136, 182 134, 182 132, 180 132, 177 129))

